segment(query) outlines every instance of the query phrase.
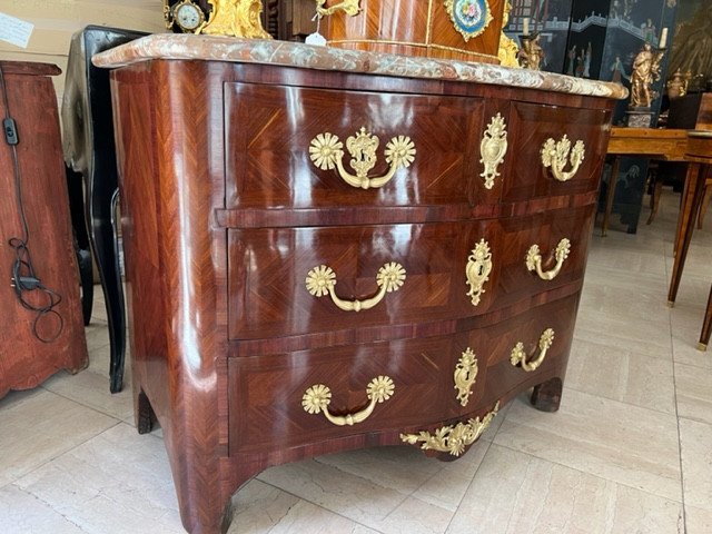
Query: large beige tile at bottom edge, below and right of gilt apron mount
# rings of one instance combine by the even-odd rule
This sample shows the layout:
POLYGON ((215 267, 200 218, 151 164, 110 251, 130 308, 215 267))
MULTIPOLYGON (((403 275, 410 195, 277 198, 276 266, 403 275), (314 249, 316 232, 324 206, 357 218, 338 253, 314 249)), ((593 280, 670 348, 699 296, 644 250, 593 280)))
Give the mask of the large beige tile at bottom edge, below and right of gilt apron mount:
POLYGON ((492 445, 447 534, 682 532, 682 505, 492 445))

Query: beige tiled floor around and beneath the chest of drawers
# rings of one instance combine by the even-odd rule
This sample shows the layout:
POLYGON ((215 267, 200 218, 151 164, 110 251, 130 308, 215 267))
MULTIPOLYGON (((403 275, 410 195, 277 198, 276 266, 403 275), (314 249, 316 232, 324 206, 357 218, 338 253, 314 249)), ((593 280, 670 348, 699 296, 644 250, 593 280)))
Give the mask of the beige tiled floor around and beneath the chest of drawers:
MULTIPOLYGON (((522 395, 454 463, 387 447, 270 468, 235 496, 229 532, 712 532, 712 352, 694 348, 712 233, 670 309, 678 198, 637 235, 596 230, 557 413, 522 395)), ((129 392, 108 393, 95 309, 87 370, 0 400, 0 533, 182 532, 160 429, 139 436, 129 392)))

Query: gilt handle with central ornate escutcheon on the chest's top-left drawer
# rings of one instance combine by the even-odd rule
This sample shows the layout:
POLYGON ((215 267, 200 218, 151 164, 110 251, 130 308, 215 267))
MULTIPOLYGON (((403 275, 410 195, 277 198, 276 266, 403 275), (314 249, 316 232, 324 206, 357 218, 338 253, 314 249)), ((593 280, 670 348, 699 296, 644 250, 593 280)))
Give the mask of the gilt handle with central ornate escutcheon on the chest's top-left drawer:
POLYGON ((386 162, 390 166, 388 172, 378 178, 368 178, 368 172, 376 166, 376 150, 379 142, 378 138, 367 132, 364 127, 356 132, 356 136, 346 139, 346 148, 352 156, 349 164, 356 175, 344 169, 344 144, 328 131, 312 139, 309 158, 322 170, 332 170, 336 167, 338 175, 349 186, 362 189, 383 187, 395 176, 396 170, 411 166, 415 160, 416 150, 409 137, 394 137, 384 151, 386 162))

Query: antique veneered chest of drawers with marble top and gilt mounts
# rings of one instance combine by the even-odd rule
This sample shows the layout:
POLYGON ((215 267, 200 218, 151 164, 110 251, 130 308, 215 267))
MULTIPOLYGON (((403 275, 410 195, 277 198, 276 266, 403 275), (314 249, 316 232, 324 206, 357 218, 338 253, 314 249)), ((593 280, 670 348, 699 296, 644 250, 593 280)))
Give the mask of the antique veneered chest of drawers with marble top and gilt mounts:
POLYGON ((139 432, 186 528, 267 466, 555 411, 617 85, 151 36, 112 72, 139 432))

